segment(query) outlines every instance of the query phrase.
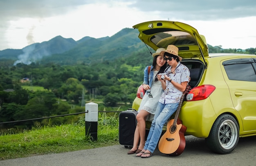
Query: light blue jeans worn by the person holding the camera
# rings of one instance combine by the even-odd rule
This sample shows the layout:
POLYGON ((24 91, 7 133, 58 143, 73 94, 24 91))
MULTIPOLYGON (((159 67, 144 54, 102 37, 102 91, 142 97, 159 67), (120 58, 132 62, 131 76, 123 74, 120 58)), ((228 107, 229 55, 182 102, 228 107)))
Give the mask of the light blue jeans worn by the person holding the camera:
POLYGON ((148 138, 146 140, 144 149, 153 153, 161 136, 164 123, 177 110, 179 103, 162 104, 158 102, 155 111, 154 120, 152 121, 148 138))

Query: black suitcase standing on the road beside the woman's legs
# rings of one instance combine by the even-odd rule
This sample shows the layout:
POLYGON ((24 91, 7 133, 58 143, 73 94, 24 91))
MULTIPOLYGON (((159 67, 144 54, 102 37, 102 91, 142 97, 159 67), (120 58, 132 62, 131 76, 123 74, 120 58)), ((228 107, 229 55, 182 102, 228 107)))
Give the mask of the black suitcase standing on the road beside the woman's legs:
POLYGON ((119 143, 124 145, 125 148, 133 146, 137 114, 138 112, 135 109, 128 109, 119 114, 119 143))

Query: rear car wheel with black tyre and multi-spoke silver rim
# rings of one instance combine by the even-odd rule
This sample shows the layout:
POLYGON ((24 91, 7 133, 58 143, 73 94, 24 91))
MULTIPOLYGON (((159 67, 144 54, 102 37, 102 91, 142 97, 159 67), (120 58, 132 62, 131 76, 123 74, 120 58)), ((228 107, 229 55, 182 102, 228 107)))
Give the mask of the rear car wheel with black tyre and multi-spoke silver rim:
POLYGON ((213 123, 209 136, 205 138, 209 149, 219 154, 231 153, 236 148, 238 140, 238 123, 229 114, 219 116, 213 123))

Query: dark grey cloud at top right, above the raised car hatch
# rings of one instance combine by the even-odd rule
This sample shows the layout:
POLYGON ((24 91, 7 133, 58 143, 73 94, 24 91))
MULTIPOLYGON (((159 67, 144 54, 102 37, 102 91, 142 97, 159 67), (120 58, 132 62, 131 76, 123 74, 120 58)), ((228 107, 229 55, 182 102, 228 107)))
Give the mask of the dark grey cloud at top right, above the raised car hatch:
POLYGON ((163 17, 182 20, 219 20, 256 16, 255 0, 137 0, 131 7, 159 11, 163 17))

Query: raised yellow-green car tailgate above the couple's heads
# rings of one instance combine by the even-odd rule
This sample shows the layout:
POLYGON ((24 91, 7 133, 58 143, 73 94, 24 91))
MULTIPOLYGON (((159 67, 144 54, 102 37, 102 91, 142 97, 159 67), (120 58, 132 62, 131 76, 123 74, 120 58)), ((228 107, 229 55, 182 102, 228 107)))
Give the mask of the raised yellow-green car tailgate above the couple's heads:
POLYGON ((179 48, 182 58, 208 57, 206 39, 188 24, 173 21, 149 21, 132 26, 139 31, 139 39, 157 50, 173 44, 179 48))

